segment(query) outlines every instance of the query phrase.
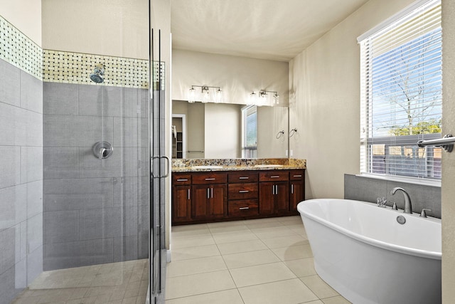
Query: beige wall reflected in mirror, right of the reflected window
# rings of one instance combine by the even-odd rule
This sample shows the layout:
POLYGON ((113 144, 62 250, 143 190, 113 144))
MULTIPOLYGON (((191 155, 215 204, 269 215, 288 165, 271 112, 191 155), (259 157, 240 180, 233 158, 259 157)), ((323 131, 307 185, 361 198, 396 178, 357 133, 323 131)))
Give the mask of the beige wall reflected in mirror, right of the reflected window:
POLYGON ((257 157, 287 157, 288 109, 285 107, 257 108, 257 157), (277 133, 284 131, 277 138, 277 133))

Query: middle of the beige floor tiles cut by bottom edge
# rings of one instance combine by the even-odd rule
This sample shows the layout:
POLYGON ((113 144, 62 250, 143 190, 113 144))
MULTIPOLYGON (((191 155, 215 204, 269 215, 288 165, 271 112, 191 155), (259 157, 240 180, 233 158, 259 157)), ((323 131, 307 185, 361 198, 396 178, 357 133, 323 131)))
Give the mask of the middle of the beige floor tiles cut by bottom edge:
POLYGON ((298 304, 318 299, 298 279, 239 288, 239 292, 245 304, 298 304))

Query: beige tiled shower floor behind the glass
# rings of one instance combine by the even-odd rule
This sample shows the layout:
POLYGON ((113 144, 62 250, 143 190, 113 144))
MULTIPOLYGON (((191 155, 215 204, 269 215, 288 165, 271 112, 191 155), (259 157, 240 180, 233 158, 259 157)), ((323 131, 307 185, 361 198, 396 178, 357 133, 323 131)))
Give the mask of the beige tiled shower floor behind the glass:
POLYGON ((13 303, 144 304, 148 280, 146 259, 45 271, 13 303))

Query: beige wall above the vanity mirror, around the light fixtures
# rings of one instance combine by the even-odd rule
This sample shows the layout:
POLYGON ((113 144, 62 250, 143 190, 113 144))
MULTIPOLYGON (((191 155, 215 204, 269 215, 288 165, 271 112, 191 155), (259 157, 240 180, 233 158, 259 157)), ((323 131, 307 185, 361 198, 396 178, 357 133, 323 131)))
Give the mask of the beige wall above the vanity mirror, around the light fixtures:
POLYGON ((173 100, 188 100, 191 85, 221 87, 223 103, 246 104, 252 90, 277 91, 289 100, 287 62, 173 50, 173 100))

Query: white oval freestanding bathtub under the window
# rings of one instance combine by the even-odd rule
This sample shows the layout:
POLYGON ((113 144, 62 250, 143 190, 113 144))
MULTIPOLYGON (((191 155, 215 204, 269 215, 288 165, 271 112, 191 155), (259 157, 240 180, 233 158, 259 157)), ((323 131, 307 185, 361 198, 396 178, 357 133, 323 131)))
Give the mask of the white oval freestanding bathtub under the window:
POLYGON ((297 209, 316 272, 350 302, 441 303, 439 219, 348 199, 311 199, 297 209))

